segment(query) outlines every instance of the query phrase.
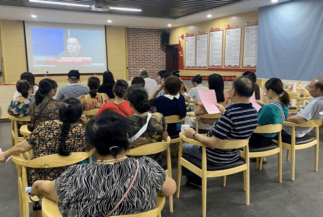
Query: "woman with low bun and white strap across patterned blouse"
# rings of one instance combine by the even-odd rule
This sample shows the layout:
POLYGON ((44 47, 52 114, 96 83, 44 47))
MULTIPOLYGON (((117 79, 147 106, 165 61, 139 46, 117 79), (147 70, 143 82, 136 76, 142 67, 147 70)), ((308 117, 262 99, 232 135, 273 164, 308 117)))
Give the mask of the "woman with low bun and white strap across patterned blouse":
MULTIPOLYGON (((166 140, 168 134, 165 118, 157 112, 148 113, 150 103, 147 91, 139 85, 131 85, 128 89, 127 100, 133 110, 133 115, 124 117, 128 126, 130 148, 166 140), (148 124, 145 125, 147 120, 148 124), (139 131, 140 135, 137 135, 139 131)), ((160 153, 148 157, 159 163, 160 153)))

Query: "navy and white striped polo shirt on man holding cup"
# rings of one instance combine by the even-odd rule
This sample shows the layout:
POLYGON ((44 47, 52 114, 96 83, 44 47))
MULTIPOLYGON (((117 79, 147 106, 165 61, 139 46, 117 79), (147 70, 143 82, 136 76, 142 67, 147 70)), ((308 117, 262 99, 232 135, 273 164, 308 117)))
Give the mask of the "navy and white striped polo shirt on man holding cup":
MULTIPOLYGON (((257 127, 257 111, 252 104, 233 104, 224 114, 214 122, 207 133, 207 137, 215 136, 219 139, 249 139, 257 127)), ((206 148, 206 159, 215 165, 225 165, 237 160, 240 149, 212 149, 206 148)))

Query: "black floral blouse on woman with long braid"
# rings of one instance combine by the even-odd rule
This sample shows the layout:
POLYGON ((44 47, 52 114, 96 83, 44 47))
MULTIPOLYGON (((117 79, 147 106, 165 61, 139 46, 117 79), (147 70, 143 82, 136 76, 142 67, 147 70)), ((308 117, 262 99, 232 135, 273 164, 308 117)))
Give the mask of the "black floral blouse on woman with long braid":
MULTIPOLYGON (((57 154, 61 133, 60 127, 61 124, 55 121, 41 122, 27 136, 28 144, 33 146, 31 160, 45 155, 57 154)), ((89 150, 89 146, 85 143, 85 129, 77 124, 71 125, 65 145, 67 152, 89 150)), ((69 166, 48 169, 27 168, 28 186, 31 186, 36 180, 55 180, 68 168, 69 166)))

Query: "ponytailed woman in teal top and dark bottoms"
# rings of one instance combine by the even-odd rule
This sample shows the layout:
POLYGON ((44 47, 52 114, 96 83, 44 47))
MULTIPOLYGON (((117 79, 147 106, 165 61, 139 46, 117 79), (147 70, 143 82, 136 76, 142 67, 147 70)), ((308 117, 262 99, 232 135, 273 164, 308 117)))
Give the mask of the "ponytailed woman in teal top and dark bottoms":
MULTIPOLYGON (((258 112, 258 126, 266 124, 282 124, 288 116, 289 95, 283 89, 283 84, 279 78, 270 78, 264 84, 264 89, 268 99, 272 103, 265 105, 261 100, 256 102, 261 105, 258 112)), ((277 133, 252 133, 249 139, 249 147, 263 147, 271 143, 277 133)), ((262 158, 262 163, 266 163, 262 158)))

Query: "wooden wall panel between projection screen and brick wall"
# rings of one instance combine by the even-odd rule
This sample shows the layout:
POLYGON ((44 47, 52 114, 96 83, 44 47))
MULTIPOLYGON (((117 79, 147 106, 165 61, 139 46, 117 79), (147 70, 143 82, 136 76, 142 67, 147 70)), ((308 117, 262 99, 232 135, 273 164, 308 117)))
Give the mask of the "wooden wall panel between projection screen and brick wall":
POLYGON ((106 26, 107 67, 114 79, 127 78, 126 27, 106 26))

